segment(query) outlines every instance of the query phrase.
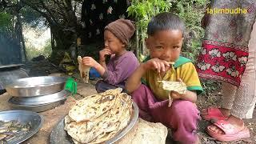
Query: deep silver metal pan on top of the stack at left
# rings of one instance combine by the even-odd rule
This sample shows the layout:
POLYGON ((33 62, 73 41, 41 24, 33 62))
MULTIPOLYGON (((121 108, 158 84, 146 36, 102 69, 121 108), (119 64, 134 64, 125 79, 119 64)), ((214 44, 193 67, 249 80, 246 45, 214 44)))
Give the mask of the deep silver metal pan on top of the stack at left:
POLYGON ((21 78, 6 86, 6 91, 11 96, 33 97, 46 94, 54 94, 64 90, 66 78, 43 76, 21 78))

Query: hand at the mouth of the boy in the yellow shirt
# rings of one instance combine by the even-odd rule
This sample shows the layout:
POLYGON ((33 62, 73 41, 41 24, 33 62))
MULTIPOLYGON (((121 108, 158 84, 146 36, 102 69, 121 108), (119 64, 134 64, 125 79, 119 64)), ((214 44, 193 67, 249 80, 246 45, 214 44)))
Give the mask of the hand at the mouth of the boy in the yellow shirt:
POLYGON ((166 71, 166 66, 169 67, 169 63, 158 58, 145 62, 146 70, 158 70, 158 73, 166 71))

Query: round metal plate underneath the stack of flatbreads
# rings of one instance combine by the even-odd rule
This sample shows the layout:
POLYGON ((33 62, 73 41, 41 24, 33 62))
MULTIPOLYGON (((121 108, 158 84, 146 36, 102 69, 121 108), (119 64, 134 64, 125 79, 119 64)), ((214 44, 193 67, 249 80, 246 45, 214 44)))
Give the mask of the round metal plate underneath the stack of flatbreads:
MULTIPOLYGON (((106 144, 117 142, 123 136, 125 136, 129 130, 131 130, 138 119, 138 106, 135 102, 133 102, 133 113, 130 119, 130 122, 126 128, 124 128, 121 132, 119 132, 114 138, 104 142, 106 144)), ((50 133, 50 144, 71 144, 74 143, 70 135, 66 133, 64 130, 64 118, 58 123, 57 126, 54 127, 52 132, 50 133)))

